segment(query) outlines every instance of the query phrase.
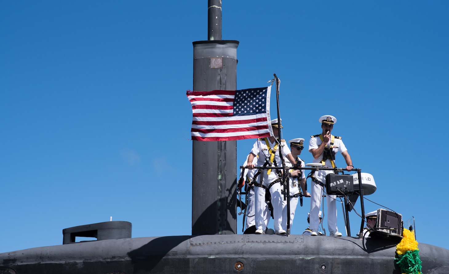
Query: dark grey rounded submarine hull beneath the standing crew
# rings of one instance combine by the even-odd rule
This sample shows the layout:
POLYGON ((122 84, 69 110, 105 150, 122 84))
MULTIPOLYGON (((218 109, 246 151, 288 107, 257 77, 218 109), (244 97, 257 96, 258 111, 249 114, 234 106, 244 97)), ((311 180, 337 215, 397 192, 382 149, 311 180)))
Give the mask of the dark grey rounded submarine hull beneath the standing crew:
MULTIPOLYGON (((111 239, 0 254, 0 274, 333 273, 401 274, 398 240, 291 235, 111 239), (240 269, 240 270, 238 270, 240 269)), ((420 243, 423 273, 449 273, 449 250, 420 243)))

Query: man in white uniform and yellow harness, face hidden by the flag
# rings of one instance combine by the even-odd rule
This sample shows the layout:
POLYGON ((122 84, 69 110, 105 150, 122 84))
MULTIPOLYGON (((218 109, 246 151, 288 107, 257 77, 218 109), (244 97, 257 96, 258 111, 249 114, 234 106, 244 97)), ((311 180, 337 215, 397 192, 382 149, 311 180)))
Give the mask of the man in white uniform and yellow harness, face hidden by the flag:
MULTIPOLYGON (((291 155, 291 151, 287 146, 285 140, 278 139, 278 123, 277 119, 271 120, 271 126, 273 127, 273 135, 265 138, 258 138, 255 141, 254 146, 248 156, 247 168, 253 169, 253 159, 258 156, 257 166, 267 167, 282 167, 281 158, 279 157, 279 146, 282 146, 283 157, 286 157, 293 165, 296 165, 296 161, 291 155)), ((279 123, 279 126, 280 125, 279 123)), ((260 180, 254 184, 254 196, 255 196, 255 234, 264 234, 266 230, 266 204, 265 204, 265 191, 269 189, 271 194, 271 204, 273 206, 273 219, 274 230, 276 234, 284 235, 286 231, 282 229, 282 200, 281 195, 281 179, 278 176, 278 170, 276 169, 263 169, 259 175, 260 180), (263 175, 263 176, 261 176, 263 175)), ((268 214, 268 218, 269 218, 268 214)))

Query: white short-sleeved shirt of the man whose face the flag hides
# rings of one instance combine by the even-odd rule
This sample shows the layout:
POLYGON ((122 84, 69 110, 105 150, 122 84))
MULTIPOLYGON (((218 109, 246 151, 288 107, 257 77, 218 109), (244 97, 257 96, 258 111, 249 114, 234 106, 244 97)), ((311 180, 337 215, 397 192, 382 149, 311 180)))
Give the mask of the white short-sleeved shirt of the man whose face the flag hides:
MULTIPOLYGON (((266 138, 268 140, 269 146, 270 148, 274 148, 274 146, 276 145, 276 142, 271 143, 270 140, 268 138, 266 138)), ((282 155, 285 158, 288 154, 291 153, 290 148, 287 146, 286 142, 283 141, 281 142, 282 145, 282 155)), ((277 147, 279 150, 279 146, 277 147)), ((279 157, 279 151, 276 151, 274 154, 274 160, 273 160, 273 165, 271 165, 272 167, 281 167, 282 163, 281 163, 281 158, 279 157), (274 165, 274 163, 276 163, 276 165, 274 165)), ((254 155, 259 156, 259 159, 257 160, 257 166, 263 166, 265 164, 266 159, 270 159, 271 155, 269 153, 267 144, 265 142, 265 140, 257 140, 254 143, 254 146, 251 150, 251 153, 254 155)), ((269 165, 267 165, 269 166, 269 165)), ((267 174, 267 169, 263 170, 263 174, 264 174, 264 185, 268 186, 269 183, 271 183, 272 181, 275 181, 277 179, 277 170, 276 169, 272 169, 270 174, 267 174)), ((260 176, 260 175, 259 175, 260 176)), ((257 178, 257 183, 260 183, 260 178, 257 178)))

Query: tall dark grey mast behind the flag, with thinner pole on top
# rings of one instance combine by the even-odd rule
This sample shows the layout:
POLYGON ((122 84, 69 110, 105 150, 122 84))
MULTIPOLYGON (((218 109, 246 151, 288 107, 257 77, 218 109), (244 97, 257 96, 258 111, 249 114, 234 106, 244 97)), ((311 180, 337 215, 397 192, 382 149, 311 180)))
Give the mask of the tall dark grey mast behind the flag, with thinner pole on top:
MULTIPOLYGON (((193 42, 193 90, 236 90, 236 40, 221 40, 221 0, 208 0, 207 41, 193 42)), ((192 235, 236 234, 237 141, 193 141, 192 235)))

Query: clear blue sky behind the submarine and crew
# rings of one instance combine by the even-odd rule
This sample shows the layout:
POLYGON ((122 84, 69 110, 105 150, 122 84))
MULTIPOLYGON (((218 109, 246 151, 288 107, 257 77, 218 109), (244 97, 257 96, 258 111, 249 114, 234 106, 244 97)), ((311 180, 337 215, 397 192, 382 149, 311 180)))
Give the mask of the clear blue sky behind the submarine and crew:
MULTIPOLYGON (((333 133, 376 181, 367 198, 414 216, 418 242, 449 248, 449 2, 284 2, 223 0, 237 88, 277 74, 287 140, 308 142, 334 115, 333 133)), ((62 229, 111 216, 133 237, 189 235, 185 90, 207 0, 1 1, 0 37, 0 252, 62 244, 62 229)), ((238 165, 253 142, 238 141, 238 165)))

